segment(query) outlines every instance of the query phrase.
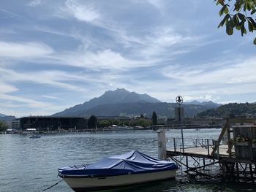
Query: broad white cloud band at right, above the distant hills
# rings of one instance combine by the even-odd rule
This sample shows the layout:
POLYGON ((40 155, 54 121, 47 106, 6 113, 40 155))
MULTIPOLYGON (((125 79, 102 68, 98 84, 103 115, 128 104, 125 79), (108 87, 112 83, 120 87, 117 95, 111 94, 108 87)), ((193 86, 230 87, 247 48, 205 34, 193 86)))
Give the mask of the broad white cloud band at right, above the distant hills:
MULTIPOLYGON (((222 58, 223 59, 223 58, 222 58)), ((179 80, 186 85, 219 85, 237 83, 256 83, 256 58, 239 60, 223 59, 216 63, 200 66, 167 66, 162 74, 179 80), (232 64, 231 64, 232 63, 232 64), (200 69, 198 69, 200 67, 200 69)))

